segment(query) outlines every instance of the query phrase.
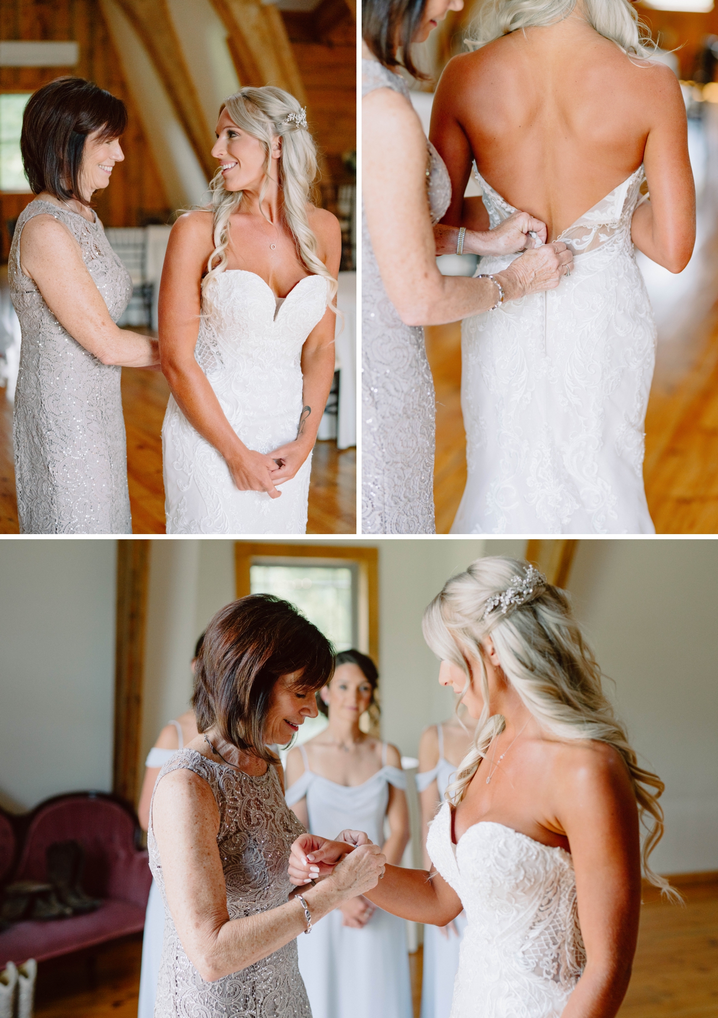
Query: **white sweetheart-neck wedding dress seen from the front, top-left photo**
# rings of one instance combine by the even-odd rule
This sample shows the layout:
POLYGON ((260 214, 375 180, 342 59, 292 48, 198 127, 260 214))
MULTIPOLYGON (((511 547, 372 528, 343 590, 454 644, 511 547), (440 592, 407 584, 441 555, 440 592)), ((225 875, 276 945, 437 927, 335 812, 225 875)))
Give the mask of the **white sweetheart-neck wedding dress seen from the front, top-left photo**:
MULTIPOLYGON (((195 357, 248 449, 293 442, 301 415, 301 347, 327 307, 322 276, 275 297, 254 272, 228 269, 202 302, 195 357)), ((318 412, 318 411, 317 411, 318 412)), ((281 496, 240 492, 224 458, 170 397, 162 426, 167 533, 305 533, 312 456, 281 496)))

